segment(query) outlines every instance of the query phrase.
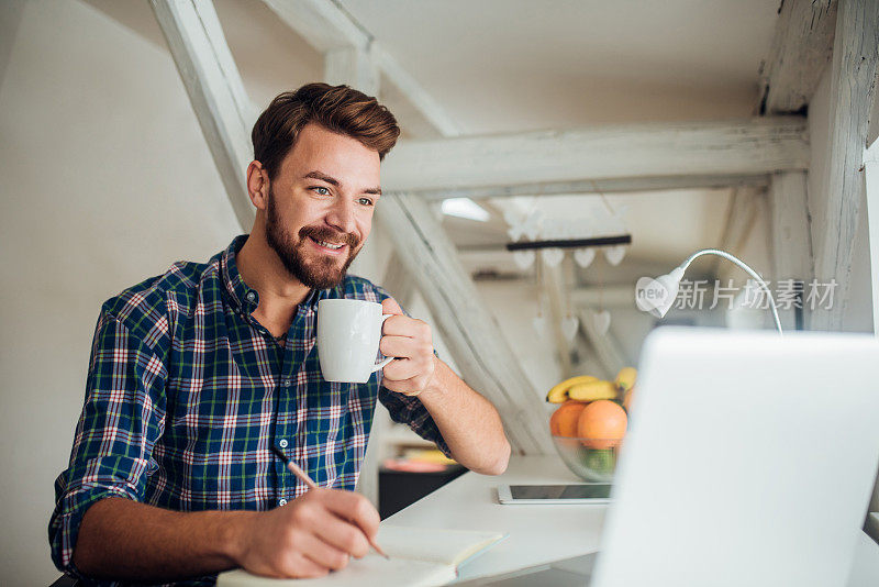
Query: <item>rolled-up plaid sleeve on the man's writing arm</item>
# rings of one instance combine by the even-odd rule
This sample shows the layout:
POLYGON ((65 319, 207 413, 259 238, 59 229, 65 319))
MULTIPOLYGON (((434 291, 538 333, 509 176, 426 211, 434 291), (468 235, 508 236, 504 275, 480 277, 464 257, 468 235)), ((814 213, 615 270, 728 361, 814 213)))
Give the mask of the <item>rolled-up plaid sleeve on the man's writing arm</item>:
POLYGON ((107 497, 143 501, 153 445, 164 430, 166 379, 163 361, 102 312, 70 462, 55 481, 48 538, 58 569, 80 576, 71 558, 89 507, 107 497))

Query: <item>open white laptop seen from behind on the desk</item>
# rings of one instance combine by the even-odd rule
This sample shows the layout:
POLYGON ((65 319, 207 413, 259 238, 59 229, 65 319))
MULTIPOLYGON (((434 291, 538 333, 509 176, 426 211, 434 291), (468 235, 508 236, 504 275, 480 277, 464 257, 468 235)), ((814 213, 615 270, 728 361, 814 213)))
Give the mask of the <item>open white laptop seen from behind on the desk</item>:
POLYGON ((482 585, 846 585, 879 465, 870 335, 658 329, 601 551, 482 585), (585 569, 585 571, 582 571, 585 569))

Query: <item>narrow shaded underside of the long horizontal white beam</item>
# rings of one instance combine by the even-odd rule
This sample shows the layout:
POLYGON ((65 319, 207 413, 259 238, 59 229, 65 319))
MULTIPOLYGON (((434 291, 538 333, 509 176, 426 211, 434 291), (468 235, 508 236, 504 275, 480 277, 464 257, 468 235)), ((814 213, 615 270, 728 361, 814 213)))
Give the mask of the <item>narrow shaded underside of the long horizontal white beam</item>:
POLYGON ((427 200, 446 198, 512 198, 514 196, 569 196, 579 193, 615 193, 633 191, 665 191, 675 189, 727 188, 737 186, 765 187, 769 176, 760 175, 706 175, 672 177, 621 177, 610 179, 587 179, 580 181, 549 181, 514 186, 487 186, 475 188, 449 188, 419 190, 419 196, 427 200))

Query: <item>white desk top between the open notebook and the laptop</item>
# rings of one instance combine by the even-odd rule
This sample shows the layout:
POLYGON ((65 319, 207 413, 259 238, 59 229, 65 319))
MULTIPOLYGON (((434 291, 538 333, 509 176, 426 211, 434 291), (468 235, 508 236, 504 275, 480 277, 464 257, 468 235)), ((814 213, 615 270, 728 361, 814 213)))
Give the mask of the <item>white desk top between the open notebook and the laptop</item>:
MULTIPOLYGON (((598 551, 607 506, 501 506, 499 484, 582 483, 557 456, 513 457, 498 477, 466 473, 387 522, 487 530, 510 538, 460 569, 460 579, 511 573, 598 551)), ((383 522, 382 522, 383 523, 383 522)))

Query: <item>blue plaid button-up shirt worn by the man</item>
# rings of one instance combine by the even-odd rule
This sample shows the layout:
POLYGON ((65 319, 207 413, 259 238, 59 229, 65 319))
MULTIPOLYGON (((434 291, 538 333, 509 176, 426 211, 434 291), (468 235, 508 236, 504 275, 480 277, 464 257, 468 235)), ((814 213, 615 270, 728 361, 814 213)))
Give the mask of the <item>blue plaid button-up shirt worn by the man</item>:
POLYGON ((235 264, 246 239, 103 304, 70 464, 55 481, 48 530, 58 568, 78 575, 79 523, 105 497, 179 511, 283 506, 308 487, 272 456, 272 444, 319 486, 354 489, 377 397, 394 421, 448 454, 421 401, 380 387, 380 372, 366 384, 321 377, 318 301, 380 302, 388 294, 354 276, 312 290, 279 344, 251 315, 258 294, 235 264))

